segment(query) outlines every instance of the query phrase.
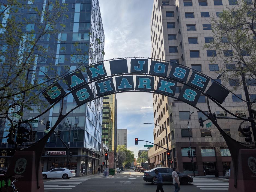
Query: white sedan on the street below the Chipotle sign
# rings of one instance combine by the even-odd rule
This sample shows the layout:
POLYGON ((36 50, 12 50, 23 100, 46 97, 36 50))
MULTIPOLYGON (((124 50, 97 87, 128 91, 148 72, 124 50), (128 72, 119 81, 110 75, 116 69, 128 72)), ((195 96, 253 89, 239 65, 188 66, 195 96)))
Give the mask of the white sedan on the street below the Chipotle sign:
POLYGON ((75 177, 76 171, 67 168, 56 168, 50 171, 43 172, 43 179, 48 178, 63 178, 70 179, 70 177, 75 177))

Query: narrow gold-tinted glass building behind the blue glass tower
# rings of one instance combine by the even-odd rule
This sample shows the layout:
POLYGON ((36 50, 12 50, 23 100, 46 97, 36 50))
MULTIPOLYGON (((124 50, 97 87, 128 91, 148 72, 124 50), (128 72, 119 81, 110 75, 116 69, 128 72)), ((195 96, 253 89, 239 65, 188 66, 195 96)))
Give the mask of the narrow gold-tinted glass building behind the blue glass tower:
POLYGON ((114 95, 103 97, 102 141, 109 152, 117 151, 117 98, 114 95))

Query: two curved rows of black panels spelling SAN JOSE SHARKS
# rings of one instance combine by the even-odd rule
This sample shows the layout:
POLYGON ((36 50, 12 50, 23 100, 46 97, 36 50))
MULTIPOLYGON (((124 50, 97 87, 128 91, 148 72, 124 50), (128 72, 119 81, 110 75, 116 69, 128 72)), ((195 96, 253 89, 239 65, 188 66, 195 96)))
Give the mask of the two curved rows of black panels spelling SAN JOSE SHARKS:
MULTIPOLYGON (((170 73, 167 74, 169 63, 155 60, 151 60, 149 73, 148 59, 131 59, 130 73, 128 72, 127 59, 112 60, 109 63, 112 76, 107 75, 103 62, 86 67, 88 77, 91 82, 95 82, 97 97, 128 91, 155 92, 174 97, 177 82, 180 82, 184 86, 178 99, 191 106, 196 106, 201 93, 206 91, 211 79, 195 70, 192 70, 189 77, 191 68, 179 64, 173 64, 170 73), (136 74, 135 83, 133 74, 136 74), (156 89, 154 89, 153 76, 160 77, 156 89), (115 78, 115 85, 113 77, 115 78)), ((78 106, 95 98, 89 86, 90 82, 86 82, 81 70, 65 76, 64 79, 78 106)), ((205 94, 222 104, 228 96, 229 90, 213 81, 205 94)), ((66 95, 66 92, 59 83, 54 83, 43 92, 43 95, 50 104, 53 104, 66 95)))

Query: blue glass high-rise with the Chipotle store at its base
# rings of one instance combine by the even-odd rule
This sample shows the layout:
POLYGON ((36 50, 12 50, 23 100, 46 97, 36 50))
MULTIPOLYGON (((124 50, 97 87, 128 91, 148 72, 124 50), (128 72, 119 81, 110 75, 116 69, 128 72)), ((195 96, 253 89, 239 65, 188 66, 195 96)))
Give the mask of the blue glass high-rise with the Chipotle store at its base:
MULTIPOLYGON (((24 1, 25 3, 26 1, 24 1)), ((48 49, 48 53, 53 53, 53 56, 47 57, 46 55, 37 55, 35 60, 36 69, 33 73, 29 73, 28 79, 33 80, 32 75, 37 80, 41 80, 47 74, 50 77, 61 75, 65 73, 67 68, 70 71, 75 70, 81 65, 81 60, 77 59, 77 52, 82 51, 85 60, 82 65, 86 66, 98 61, 103 61, 104 56, 101 52, 95 52, 95 56, 92 59, 88 59, 89 46, 93 50, 104 50, 104 31, 102 25, 102 18, 100 14, 100 7, 98 0, 63 0, 62 3, 67 4, 66 12, 58 20, 56 29, 58 33, 45 34, 38 41, 38 45, 48 49), (62 25, 63 24, 63 25, 62 25), (98 44, 97 38, 103 43, 98 44), (44 73, 42 73, 43 71, 44 73)), ((13 15, 19 18, 28 19, 29 15, 34 15, 34 23, 26 26, 26 31, 35 31, 35 37, 37 37, 37 26, 43 21, 43 13, 46 9, 54 11, 52 2, 50 0, 35 0, 27 1, 27 5, 30 8, 20 7, 17 13, 13 15), (35 14, 34 8, 42 10, 42 16, 38 17, 35 14)), ((10 14, 11 15, 11 14, 10 14)), ((7 23, 8 25, 8 23, 7 23)), ((2 41, 1 41, 2 42, 2 41)), ((35 53, 37 54, 37 53, 35 53)), ((88 82, 88 76, 86 72, 82 72, 85 80, 88 82)), ((64 82, 59 81, 60 85, 66 92, 67 85, 64 82)), ((96 88, 94 84, 90 85, 90 88, 94 94, 96 94, 96 88)), ((45 100, 47 103, 47 100, 45 100)), ((70 151, 72 152, 72 159, 67 164, 67 155, 47 155, 48 151, 67 151, 64 144, 57 138, 55 134, 51 135, 48 140, 44 154, 41 158, 43 171, 49 171, 56 167, 68 167, 76 171, 77 176, 94 174, 97 172, 98 165, 100 164, 101 142, 102 142, 102 98, 90 101, 71 112, 67 117, 58 125, 55 131, 61 132, 61 138, 66 144, 70 143, 70 151), (69 127, 71 131, 69 132, 69 127), (70 140, 69 140, 70 134, 70 140)), ((50 121, 52 127, 60 113, 61 103, 56 104, 50 111, 35 119, 31 122, 33 127, 32 135, 29 136, 29 143, 33 143, 41 139, 45 132, 45 125, 41 125, 40 121, 50 121)), ((76 102, 69 94, 64 98, 63 114, 69 112, 76 107, 76 102)), ((29 119, 39 115, 37 109, 26 111, 23 119, 29 119)), ((6 125, 5 125, 6 126, 6 125)), ((8 134, 8 127, 1 127, 1 135, 8 134), (4 131, 3 131, 4 130, 4 131)), ((7 139, 1 139, 1 154, 0 162, 1 167, 7 168, 11 157, 7 155, 7 152, 13 146, 7 143, 7 139)))

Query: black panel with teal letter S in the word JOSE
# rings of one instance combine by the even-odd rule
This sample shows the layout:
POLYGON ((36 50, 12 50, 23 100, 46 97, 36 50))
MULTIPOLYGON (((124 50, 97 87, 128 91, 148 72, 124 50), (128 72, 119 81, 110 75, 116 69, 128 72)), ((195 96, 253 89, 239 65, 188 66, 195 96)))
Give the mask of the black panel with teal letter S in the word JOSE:
POLYGON ((189 68, 182 67, 182 65, 173 64, 169 77, 186 83, 189 71, 189 68))

